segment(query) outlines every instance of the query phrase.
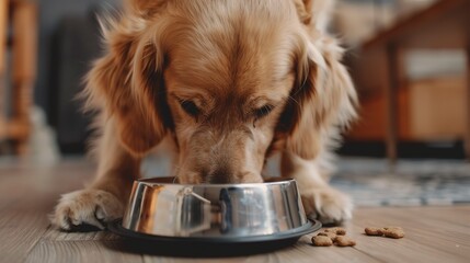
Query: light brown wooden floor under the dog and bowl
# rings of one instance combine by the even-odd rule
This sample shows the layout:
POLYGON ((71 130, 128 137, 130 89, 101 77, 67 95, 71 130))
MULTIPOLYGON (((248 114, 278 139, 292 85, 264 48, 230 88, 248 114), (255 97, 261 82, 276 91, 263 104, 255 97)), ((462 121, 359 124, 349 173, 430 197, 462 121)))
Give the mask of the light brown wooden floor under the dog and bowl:
MULTIPOLYGON (((66 233, 47 219, 59 194, 79 188, 93 167, 64 161, 53 168, 0 162, 0 262, 220 262, 122 252, 108 232, 66 233), (114 248, 114 249, 113 249, 114 248)), ((354 248, 314 248, 311 236, 290 248, 223 262, 470 262, 470 206, 357 208, 346 225, 354 248), (366 226, 401 226, 400 240, 366 237, 366 226)))

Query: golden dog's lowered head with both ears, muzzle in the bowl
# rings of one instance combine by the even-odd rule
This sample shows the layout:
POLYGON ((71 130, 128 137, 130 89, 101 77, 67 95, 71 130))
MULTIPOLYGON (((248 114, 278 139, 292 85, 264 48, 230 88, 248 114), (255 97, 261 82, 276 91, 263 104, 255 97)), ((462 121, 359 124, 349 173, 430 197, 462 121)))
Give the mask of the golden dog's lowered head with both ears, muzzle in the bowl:
POLYGON ((134 155, 172 136, 183 183, 262 182, 273 150, 312 159, 355 93, 299 2, 133 0, 105 31, 91 98, 134 155))

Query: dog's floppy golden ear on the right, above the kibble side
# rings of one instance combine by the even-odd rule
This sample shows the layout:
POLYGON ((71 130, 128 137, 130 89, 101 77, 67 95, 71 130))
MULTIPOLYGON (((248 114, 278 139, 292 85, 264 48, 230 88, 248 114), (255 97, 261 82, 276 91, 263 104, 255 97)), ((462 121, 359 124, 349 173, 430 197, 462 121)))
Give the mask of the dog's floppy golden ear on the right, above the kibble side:
POLYGON ((313 159, 335 127, 356 116, 357 96, 335 42, 325 39, 321 47, 309 43, 306 48, 298 57, 298 81, 280 126, 287 127, 286 149, 313 159))

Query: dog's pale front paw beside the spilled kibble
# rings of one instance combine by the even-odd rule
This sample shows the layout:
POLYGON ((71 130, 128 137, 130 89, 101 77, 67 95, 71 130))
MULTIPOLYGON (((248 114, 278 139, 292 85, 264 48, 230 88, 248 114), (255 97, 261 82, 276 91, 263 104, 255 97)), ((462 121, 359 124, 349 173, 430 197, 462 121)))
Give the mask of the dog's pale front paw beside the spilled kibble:
POLYGON ((352 218, 353 203, 349 196, 332 187, 321 187, 301 193, 306 214, 313 215, 322 224, 341 224, 352 218))

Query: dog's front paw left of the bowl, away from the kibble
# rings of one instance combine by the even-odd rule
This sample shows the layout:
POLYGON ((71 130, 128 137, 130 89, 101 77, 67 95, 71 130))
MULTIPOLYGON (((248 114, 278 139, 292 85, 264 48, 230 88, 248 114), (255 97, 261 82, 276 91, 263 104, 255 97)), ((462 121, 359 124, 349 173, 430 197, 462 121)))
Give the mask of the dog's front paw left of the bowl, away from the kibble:
POLYGON ((62 230, 93 226, 104 229, 104 222, 123 216, 123 204, 111 193, 81 190, 62 195, 50 220, 62 230))

